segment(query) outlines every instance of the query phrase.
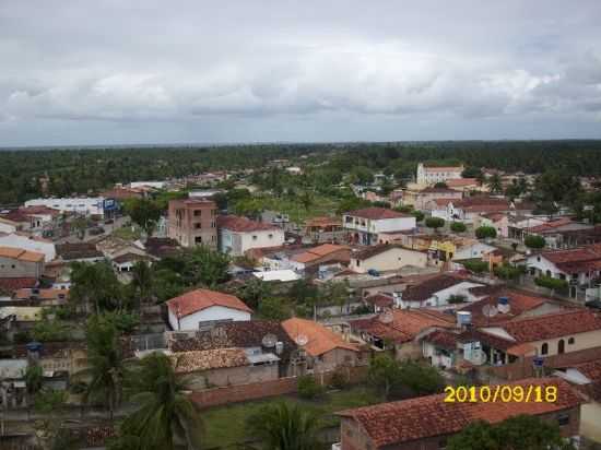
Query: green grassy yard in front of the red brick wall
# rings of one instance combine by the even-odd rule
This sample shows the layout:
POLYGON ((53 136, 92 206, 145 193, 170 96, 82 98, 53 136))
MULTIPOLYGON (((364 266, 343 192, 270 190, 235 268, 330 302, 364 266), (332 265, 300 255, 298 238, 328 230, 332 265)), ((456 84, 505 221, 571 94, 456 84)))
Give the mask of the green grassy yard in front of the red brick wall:
POLYGON ((314 410, 321 415, 323 426, 330 427, 339 424, 338 417, 332 415, 334 412, 380 403, 384 400, 373 390, 363 386, 355 386, 343 391, 328 393, 323 398, 314 401, 286 395, 284 398, 212 407, 202 413, 207 431, 205 447, 209 449, 215 447, 227 448, 227 446, 244 442, 247 419, 262 406, 281 401, 298 403, 314 410))

